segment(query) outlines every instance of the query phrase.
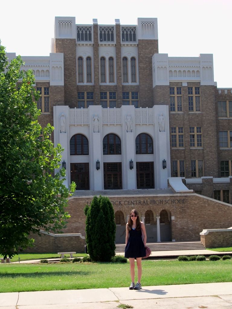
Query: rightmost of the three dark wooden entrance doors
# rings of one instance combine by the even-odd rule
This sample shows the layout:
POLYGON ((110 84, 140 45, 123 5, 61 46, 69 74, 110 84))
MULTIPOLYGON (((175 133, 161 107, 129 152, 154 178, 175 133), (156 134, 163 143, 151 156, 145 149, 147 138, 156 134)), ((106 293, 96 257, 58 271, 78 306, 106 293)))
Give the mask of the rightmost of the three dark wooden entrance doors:
POLYGON ((137 189, 154 188, 154 163, 136 162, 137 189))

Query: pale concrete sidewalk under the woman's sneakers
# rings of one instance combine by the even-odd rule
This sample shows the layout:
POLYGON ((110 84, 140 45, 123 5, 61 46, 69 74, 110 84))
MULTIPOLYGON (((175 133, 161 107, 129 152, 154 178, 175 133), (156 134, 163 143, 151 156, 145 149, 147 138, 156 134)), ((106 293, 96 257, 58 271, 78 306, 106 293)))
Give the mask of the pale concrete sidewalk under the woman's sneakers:
POLYGON ((0 309, 232 308, 232 282, 171 286, 1 293, 0 309))

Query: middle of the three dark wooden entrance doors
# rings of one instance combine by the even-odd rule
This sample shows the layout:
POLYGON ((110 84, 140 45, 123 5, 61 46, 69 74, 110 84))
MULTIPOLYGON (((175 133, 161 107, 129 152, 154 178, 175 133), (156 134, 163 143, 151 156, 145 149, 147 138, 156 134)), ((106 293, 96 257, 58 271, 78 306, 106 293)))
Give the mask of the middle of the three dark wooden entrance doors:
POLYGON ((104 189, 122 189, 122 163, 104 163, 104 189))

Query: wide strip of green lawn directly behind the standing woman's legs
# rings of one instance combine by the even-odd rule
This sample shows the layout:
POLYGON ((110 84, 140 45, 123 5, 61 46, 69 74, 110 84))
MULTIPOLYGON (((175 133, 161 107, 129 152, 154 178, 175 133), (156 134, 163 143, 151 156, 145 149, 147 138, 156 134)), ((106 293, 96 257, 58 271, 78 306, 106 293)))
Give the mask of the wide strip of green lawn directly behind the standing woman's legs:
MULTIPOLYGON (((229 282, 232 260, 143 261, 143 286, 229 282)), ((0 264, 0 292, 72 290, 130 285, 130 265, 114 263, 0 264)))

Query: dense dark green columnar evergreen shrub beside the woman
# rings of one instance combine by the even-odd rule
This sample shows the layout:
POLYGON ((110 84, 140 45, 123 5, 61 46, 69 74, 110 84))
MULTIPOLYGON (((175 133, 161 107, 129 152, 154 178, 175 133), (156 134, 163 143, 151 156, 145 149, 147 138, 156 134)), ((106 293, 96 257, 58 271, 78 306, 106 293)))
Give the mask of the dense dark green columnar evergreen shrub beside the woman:
POLYGON ((114 209, 108 197, 93 197, 86 215, 86 243, 88 254, 94 261, 110 261, 115 255, 114 209))

